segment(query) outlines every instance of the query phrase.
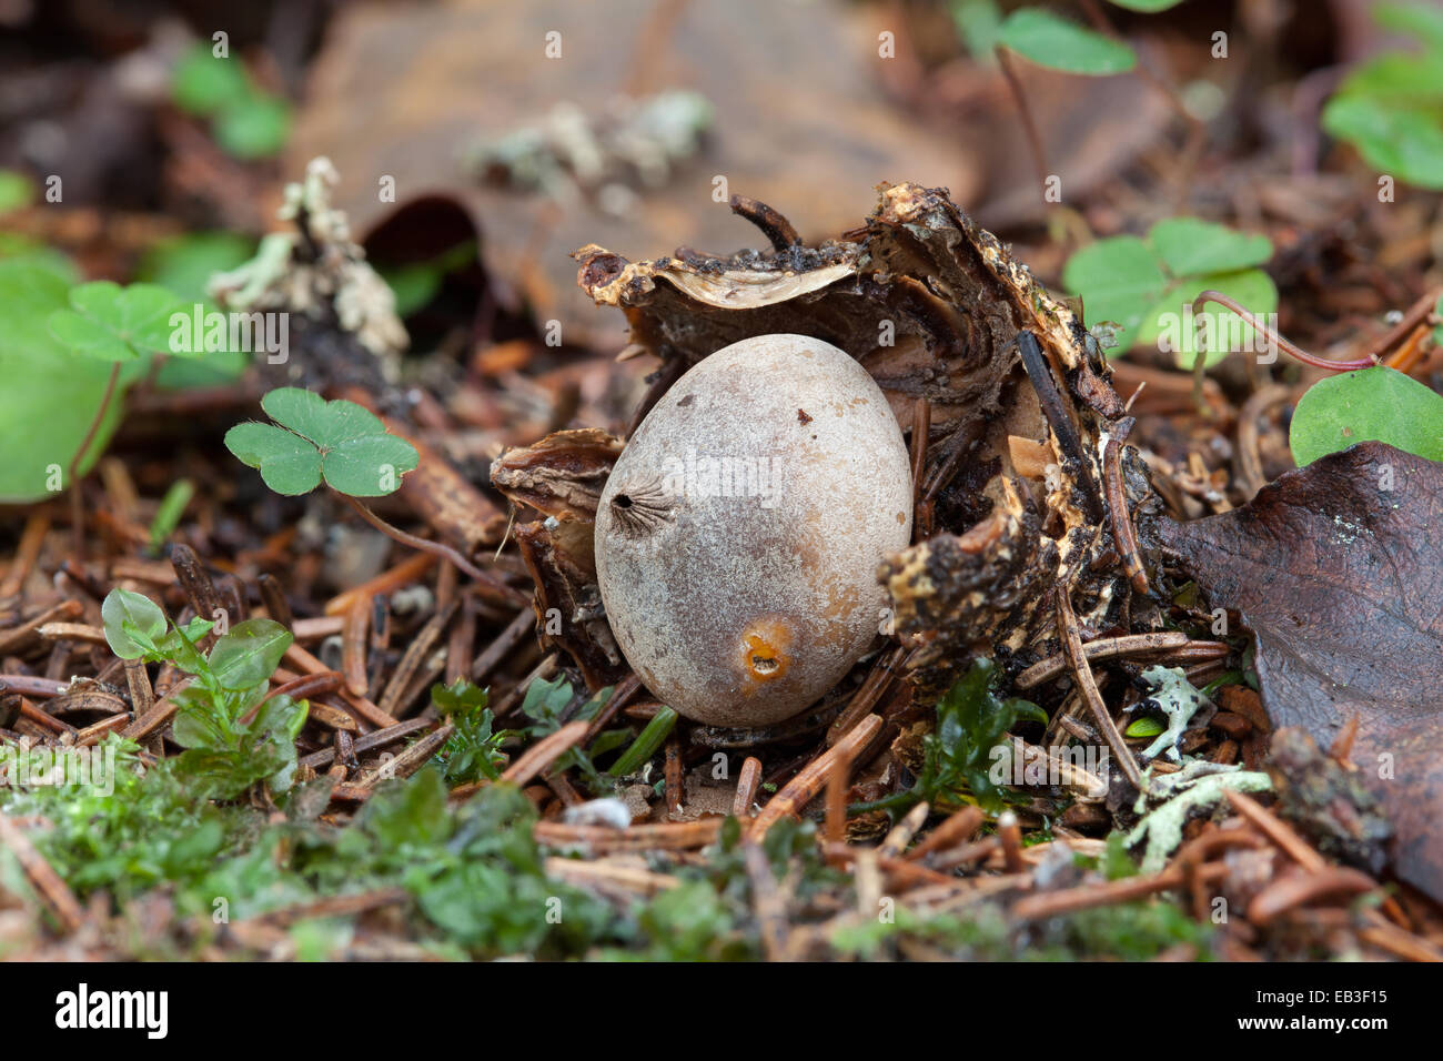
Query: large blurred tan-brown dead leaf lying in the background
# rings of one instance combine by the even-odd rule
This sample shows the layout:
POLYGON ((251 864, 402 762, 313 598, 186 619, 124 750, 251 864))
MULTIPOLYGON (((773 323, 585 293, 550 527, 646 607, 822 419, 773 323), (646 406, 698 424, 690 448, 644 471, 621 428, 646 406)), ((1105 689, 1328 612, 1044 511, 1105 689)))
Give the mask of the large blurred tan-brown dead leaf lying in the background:
POLYGON ((951 139, 908 121, 876 85, 877 40, 850 32, 837 3, 736 0, 685 4, 670 25, 651 0, 574 4, 558 0, 348 4, 328 29, 289 167, 326 154, 345 175, 336 205, 358 232, 397 199, 456 195, 476 215, 482 256, 538 319, 561 320, 567 342, 619 348, 622 322, 596 313, 573 283, 567 257, 597 243, 629 256, 670 254, 680 244, 737 247, 755 238, 730 192, 773 204, 802 234, 837 232, 856 219, 879 179, 902 173, 970 201, 977 169, 951 139), (561 33, 547 59, 545 35, 561 33), (646 42, 641 48, 639 42, 646 42), (703 152, 661 189, 639 192, 632 214, 592 202, 561 208, 535 193, 488 188, 463 173, 479 137, 534 123, 557 102, 592 111, 623 91, 691 89, 714 108, 703 152), (763 120, 765 118, 765 120, 763 120))

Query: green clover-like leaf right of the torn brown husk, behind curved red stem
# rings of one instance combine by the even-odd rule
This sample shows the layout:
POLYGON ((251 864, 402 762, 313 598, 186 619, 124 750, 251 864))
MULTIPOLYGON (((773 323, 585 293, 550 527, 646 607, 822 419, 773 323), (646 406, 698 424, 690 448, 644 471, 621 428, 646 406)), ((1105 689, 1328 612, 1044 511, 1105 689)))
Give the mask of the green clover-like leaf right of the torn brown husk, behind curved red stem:
MULTIPOLYGON (((1076 251, 1062 270, 1062 284, 1082 296, 1089 323, 1117 325, 1118 352, 1165 344, 1179 367, 1190 368, 1198 333, 1188 305, 1199 292, 1214 290, 1254 313, 1271 313, 1277 287, 1258 268, 1271 257, 1273 244, 1264 235, 1198 218, 1167 218, 1146 240, 1114 235, 1076 251)), ((1253 342, 1251 326, 1227 312, 1224 320, 1235 320, 1227 331, 1240 342, 1253 342)), ((1206 364, 1227 354, 1227 344, 1209 342, 1206 364)))

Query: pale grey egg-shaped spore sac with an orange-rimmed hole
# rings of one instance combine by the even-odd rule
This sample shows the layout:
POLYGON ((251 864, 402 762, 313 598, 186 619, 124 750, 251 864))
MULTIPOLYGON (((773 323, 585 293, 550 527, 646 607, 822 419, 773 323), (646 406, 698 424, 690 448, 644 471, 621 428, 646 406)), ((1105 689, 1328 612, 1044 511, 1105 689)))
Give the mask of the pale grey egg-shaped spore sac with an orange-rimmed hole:
POLYGON ((596 575, 662 703, 765 726, 873 645, 877 566, 911 536, 911 463, 882 390, 821 339, 763 335, 693 367, 642 420, 602 492, 596 575))

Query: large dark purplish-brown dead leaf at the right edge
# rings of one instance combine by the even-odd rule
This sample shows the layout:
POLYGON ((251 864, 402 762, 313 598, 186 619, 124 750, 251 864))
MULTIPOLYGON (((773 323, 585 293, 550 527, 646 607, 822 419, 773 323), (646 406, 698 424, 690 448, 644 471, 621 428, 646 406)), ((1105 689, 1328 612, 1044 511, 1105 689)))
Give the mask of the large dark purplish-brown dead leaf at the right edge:
POLYGON ((1255 632, 1274 728, 1326 746, 1359 716, 1352 758, 1395 829, 1394 869, 1443 901, 1443 465, 1365 442, 1159 533, 1255 632))

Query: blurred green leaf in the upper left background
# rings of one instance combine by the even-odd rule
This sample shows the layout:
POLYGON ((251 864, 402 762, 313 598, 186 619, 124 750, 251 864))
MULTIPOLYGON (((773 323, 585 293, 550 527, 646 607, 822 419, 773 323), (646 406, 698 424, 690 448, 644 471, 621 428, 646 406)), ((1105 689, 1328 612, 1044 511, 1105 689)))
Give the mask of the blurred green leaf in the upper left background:
POLYGON ((261 89, 240 59, 196 45, 176 66, 176 105, 211 120, 215 141, 237 159, 278 154, 290 136, 290 104, 261 89))

